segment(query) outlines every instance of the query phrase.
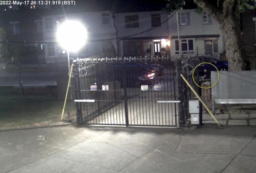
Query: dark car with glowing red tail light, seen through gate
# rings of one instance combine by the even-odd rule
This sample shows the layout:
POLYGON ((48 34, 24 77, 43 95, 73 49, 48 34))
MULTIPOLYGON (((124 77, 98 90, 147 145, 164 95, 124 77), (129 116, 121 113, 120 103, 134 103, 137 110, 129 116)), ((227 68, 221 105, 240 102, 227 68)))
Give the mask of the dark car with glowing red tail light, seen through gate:
MULTIPOLYGON (((114 64, 114 78, 120 81, 123 87, 122 63, 114 64)), ((150 85, 155 78, 155 72, 138 63, 125 64, 126 86, 138 87, 140 85, 150 85)))

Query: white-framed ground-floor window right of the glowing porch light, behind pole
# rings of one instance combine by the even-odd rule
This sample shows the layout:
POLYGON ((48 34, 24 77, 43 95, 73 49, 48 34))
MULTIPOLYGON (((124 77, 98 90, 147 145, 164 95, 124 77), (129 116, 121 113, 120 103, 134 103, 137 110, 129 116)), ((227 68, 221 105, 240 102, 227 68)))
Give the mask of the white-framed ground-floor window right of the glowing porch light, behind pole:
MULTIPOLYGON (((194 39, 182 39, 180 41, 182 54, 194 53, 194 39)), ((175 54, 179 54, 179 42, 175 40, 175 54)))

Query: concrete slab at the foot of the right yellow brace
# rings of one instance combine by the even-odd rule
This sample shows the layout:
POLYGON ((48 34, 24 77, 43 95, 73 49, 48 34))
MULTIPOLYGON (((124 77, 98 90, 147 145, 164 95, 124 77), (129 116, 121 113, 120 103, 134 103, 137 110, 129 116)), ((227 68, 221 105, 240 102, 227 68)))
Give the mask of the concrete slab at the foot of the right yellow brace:
POLYGON ((238 154, 255 134, 255 128, 248 127, 245 131, 243 128, 225 126, 224 129, 212 129, 205 126, 201 130, 187 131, 175 152, 238 154))

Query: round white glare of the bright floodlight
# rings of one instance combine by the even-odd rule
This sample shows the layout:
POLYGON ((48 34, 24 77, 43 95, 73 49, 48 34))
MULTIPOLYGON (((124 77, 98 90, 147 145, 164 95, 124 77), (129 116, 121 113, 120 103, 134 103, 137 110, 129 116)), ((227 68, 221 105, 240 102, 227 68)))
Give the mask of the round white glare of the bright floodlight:
POLYGON ((68 51, 78 51, 86 42, 86 29, 78 21, 67 20, 57 31, 57 41, 68 51))

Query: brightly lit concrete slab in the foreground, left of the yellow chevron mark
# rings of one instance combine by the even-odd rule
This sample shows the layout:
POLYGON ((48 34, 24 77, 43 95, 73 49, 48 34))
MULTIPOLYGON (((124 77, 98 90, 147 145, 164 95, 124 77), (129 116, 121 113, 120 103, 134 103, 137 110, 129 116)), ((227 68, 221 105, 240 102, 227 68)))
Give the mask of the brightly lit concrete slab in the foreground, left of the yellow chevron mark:
POLYGON ((117 171, 137 159, 107 142, 81 142, 53 156, 117 171))

